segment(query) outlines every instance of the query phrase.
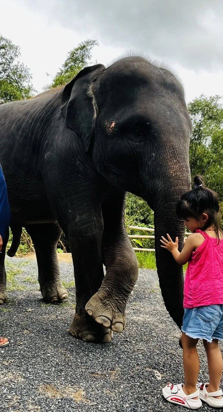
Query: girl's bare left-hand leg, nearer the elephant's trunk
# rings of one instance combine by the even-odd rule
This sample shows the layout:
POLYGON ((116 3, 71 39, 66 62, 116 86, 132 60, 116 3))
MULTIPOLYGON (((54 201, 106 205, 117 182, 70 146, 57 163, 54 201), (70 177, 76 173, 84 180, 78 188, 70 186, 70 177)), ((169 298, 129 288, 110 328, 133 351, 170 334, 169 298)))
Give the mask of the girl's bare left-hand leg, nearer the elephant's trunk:
MULTIPOLYGON (((183 346, 185 378, 185 385, 183 387, 183 390, 186 395, 190 395, 190 393, 197 391, 197 377, 200 368, 199 356, 196 348, 198 339, 193 339, 182 332, 181 342, 183 346)), ((198 397, 196 397, 195 399, 198 399, 198 397)))

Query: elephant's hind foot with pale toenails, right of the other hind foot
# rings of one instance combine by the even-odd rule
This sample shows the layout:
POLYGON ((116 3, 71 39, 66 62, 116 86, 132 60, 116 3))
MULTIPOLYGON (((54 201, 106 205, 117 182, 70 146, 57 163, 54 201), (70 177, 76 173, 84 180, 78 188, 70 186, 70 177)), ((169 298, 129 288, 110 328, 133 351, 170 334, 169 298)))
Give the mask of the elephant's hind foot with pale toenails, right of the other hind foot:
POLYGON ((39 283, 44 302, 59 303, 68 297, 67 290, 61 282, 39 283))

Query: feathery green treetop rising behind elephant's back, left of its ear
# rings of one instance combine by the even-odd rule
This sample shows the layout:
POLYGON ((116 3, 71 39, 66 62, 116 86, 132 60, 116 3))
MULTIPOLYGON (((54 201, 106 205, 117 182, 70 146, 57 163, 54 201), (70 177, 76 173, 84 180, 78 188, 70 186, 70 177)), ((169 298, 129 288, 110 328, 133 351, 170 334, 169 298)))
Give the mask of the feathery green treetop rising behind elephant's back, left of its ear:
POLYGON ((63 86, 70 82, 80 70, 88 66, 88 61, 91 59, 91 50, 94 46, 98 46, 97 40, 85 40, 74 47, 68 55, 67 59, 62 65, 62 68, 56 73, 51 84, 45 88, 63 86))

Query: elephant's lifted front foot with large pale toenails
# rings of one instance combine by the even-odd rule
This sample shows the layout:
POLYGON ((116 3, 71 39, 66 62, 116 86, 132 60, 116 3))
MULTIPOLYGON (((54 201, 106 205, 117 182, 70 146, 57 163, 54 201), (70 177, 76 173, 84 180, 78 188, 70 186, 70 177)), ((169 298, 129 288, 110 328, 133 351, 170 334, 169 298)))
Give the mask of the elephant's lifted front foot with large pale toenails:
POLYGON ((108 293, 98 291, 88 300, 85 306, 88 315, 97 323, 110 328, 114 332, 122 332, 125 328, 125 304, 127 298, 121 298, 120 302, 109 297, 108 293))

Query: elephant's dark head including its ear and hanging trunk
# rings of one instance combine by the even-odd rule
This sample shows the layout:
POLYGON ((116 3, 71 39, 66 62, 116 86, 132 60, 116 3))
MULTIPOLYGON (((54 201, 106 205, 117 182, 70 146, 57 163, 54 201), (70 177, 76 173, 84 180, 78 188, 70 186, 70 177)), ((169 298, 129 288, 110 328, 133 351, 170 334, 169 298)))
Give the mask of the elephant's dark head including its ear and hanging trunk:
POLYGON ((191 122, 179 81, 142 57, 126 57, 108 68, 86 68, 63 91, 62 111, 83 139, 98 171, 122 190, 145 199, 154 210, 160 288, 167 310, 181 327, 182 268, 160 236, 179 236, 184 227, 175 204, 190 187, 191 122))

